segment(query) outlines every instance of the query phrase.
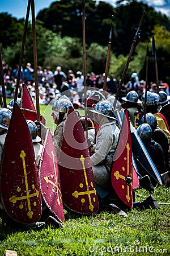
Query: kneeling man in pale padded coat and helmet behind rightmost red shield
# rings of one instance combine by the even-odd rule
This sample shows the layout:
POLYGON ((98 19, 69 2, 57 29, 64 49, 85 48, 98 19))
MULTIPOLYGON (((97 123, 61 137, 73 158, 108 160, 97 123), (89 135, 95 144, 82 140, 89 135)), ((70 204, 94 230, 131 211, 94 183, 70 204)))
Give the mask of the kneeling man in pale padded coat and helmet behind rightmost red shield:
MULTIPOLYGON (((120 136, 116 119, 113 117, 113 105, 107 100, 100 101, 94 110, 90 111, 94 115, 94 121, 100 124, 100 129, 96 135, 96 150, 91 156, 91 164, 101 209, 103 207, 127 217, 127 214, 120 208, 126 209, 125 204, 118 199, 111 184, 113 155, 120 136)), ((156 208, 158 204, 151 195, 144 201, 134 203, 133 207, 139 209, 156 208)))

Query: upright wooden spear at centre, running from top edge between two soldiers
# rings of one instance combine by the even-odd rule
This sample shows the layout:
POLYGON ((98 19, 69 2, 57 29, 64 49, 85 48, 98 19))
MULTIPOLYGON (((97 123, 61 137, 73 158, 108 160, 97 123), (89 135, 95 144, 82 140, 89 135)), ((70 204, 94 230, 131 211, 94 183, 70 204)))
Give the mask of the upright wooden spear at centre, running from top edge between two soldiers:
POLYGON ((86 126, 86 138, 88 138, 87 122, 87 88, 86 88, 86 36, 85 36, 85 0, 82 0, 82 23, 83 23, 83 74, 84 74, 84 115, 86 126))

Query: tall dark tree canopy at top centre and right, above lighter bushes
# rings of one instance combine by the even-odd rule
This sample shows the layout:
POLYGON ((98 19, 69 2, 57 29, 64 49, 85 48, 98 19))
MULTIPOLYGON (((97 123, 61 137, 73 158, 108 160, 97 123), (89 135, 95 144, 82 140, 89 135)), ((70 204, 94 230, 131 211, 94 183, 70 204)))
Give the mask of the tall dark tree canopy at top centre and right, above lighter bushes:
MULTIPOLYGON (((142 26, 141 40, 145 42, 150 37, 156 24, 163 25, 168 30, 170 20, 166 15, 156 11, 143 2, 136 0, 119 1, 114 8, 109 3, 93 0, 86 1, 86 42, 89 46, 92 42, 107 46, 108 35, 113 18, 113 52, 116 55, 127 55, 130 43, 138 27, 139 19, 143 11, 146 11, 142 26)), ((53 32, 61 33, 61 36, 82 38, 82 2, 61 0, 53 2, 49 9, 42 10, 37 15, 44 27, 53 32)))

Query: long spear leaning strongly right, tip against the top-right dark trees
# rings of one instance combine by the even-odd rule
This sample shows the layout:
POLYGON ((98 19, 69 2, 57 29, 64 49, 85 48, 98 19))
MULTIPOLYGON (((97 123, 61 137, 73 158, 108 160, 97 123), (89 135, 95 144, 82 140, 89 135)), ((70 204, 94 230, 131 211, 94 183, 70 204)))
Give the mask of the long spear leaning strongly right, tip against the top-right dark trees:
POLYGON ((139 21, 138 28, 137 28, 137 31, 136 31, 136 33, 135 33, 135 36, 134 36, 134 39, 133 39, 133 43, 132 43, 132 45, 131 45, 131 49, 130 49, 130 52, 129 52, 128 60, 126 61, 126 65, 125 65, 124 71, 123 71, 123 73, 122 73, 122 77, 121 77, 121 80, 120 80, 120 84, 119 84, 119 86, 118 86, 117 93, 116 93, 116 97, 115 97, 114 104, 113 104, 114 108, 115 108, 115 106, 116 106, 116 102, 117 102, 117 100, 118 100, 118 96, 119 96, 119 94, 120 94, 122 84, 124 83, 124 79, 125 79, 125 76, 126 76, 126 72, 127 72, 127 70, 128 70, 128 67, 129 67, 129 63, 130 63, 130 59, 131 59, 132 53, 133 53, 133 51, 134 51, 135 45, 137 44, 138 38, 140 38, 140 32, 141 32, 140 28, 142 27, 144 15, 145 15, 145 11, 143 11, 141 20, 139 21))

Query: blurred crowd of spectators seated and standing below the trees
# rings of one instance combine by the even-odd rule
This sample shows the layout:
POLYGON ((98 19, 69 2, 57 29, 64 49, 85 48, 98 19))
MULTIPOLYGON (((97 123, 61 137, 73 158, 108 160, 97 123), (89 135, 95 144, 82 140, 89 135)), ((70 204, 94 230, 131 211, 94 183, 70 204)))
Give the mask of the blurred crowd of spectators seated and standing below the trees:
MULTIPOLYGON (((2 63, 3 75, 6 88, 6 97, 14 98, 16 80, 18 76, 19 65, 17 64, 14 69, 10 68, 5 62, 2 63)), ((21 69, 20 81, 19 81, 19 95, 20 88, 23 82, 27 85, 29 92, 32 96, 33 101, 35 101, 35 82, 34 82, 34 69, 31 67, 30 63, 25 65, 25 69, 21 69)), ((86 86, 87 86, 87 96, 91 90, 94 88, 98 90, 103 90, 104 85, 104 73, 96 75, 94 72, 86 74, 86 86)), ((71 101, 77 102, 79 106, 83 106, 83 85, 84 85, 84 75, 82 71, 76 71, 75 73, 70 69, 67 73, 62 71, 62 68, 57 66, 56 71, 51 71, 50 67, 45 67, 42 69, 41 66, 37 68, 37 76, 39 82, 39 96, 40 104, 49 104, 53 98, 60 97, 61 93, 67 93, 67 96, 71 101)), ((1 77, 0 77, 1 79, 1 77)), ((106 91, 109 94, 116 94, 118 89, 119 81, 114 78, 111 74, 107 77, 106 91)), ((2 88, 1 94, 2 94, 2 88)), ((148 89, 151 92, 156 92, 156 84, 150 82, 148 89)), ((142 94, 145 92, 145 80, 139 81, 137 73, 132 73, 127 84, 123 84, 120 91, 119 100, 125 97, 130 90, 135 90, 138 93, 139 99, 141 99, 142 94)), ((159 81, 159 90, 164 90, 167 95, 169 95, 169 86, 162 80, 159 81)))

